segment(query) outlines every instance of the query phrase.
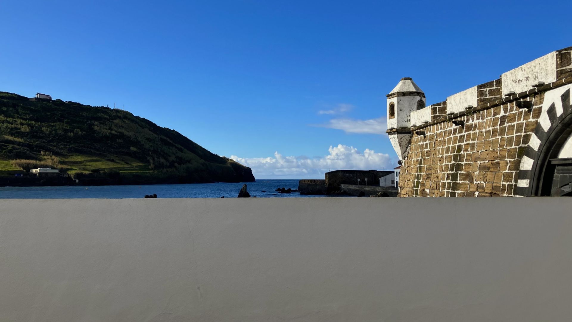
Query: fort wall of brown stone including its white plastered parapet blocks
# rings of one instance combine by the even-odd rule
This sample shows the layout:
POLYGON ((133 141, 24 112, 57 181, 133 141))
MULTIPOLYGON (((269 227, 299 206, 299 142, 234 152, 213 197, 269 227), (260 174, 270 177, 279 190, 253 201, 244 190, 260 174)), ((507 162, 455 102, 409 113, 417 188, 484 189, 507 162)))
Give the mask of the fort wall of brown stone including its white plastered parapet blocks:
POLYGON ((533 195, 539 148, 570 109, 571 51, 557 50, 413 111, 409 127, 388 129, 390 138, 401 136, 392 140, 401 145, 396 151, 405 151, 400 194, 533 195))

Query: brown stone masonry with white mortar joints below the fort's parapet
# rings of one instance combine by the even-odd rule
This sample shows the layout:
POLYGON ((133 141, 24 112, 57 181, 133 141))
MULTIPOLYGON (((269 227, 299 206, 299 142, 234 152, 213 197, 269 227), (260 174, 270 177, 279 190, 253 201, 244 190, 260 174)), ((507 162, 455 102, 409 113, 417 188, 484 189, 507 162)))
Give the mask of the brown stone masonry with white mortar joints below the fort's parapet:
POLYGON ((401 168, 402 197, 514 195, 543 96, 529 98, 536 106, 530 111, 509 103, 459 118, 464 125, 444 122, 414 134, 401 168))

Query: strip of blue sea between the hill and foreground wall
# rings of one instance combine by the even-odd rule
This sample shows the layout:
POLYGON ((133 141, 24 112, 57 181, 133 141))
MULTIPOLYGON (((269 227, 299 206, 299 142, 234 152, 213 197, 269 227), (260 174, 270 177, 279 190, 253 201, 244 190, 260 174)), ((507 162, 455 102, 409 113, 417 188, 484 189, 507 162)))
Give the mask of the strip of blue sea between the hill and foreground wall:
MULTIPOLYGON (((280 194, 277 188, 298 189, 299 180, 256 180, 245 182, 251 196, 261 198, 327 197, 300 193, 280 194)), ((149 184, 143 186, 62 186, 62 187, 0 187, 0 199, 69 199, 69 198, 235 198, 244 183, 149 184)))

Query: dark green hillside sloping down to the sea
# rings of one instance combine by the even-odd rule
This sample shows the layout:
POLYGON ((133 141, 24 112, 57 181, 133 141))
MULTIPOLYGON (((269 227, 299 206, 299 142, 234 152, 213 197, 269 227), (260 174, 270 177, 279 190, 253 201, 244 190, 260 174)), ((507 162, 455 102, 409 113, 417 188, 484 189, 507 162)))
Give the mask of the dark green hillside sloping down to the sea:
POLYGON ((120 109, 0 92, 0 174, 46 166, 124 183, 253 181, 251 169, 120 109))

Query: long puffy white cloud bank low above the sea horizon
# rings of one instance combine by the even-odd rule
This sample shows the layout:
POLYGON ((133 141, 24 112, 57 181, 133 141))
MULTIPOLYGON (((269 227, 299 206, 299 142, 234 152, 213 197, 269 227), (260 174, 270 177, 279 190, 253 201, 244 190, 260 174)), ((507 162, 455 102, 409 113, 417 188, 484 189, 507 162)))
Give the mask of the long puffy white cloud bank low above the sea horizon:
POLYGON ((256 178, 270 179, 288 176, 290 178, 322 179, 324 172, 329 170, 382 170, 382 167, 393 168, 392 158, 388 154, 376 153, 366 149, 363 152, 354 147, 330 146, 329 155, 321 158, 307 156, 283 156, 275 152, 268 158, 239 158, 232 155, 231 159, 252 168, 256 178))

